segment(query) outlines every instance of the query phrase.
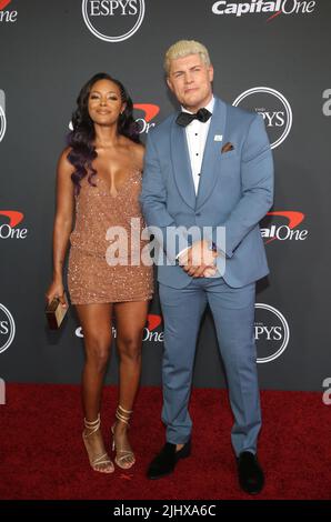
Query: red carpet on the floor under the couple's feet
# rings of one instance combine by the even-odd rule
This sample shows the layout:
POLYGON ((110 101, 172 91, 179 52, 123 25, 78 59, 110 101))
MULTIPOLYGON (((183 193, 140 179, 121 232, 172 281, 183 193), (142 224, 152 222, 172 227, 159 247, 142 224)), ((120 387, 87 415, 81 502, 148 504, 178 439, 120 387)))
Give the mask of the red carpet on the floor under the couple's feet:
MULTIPOLYGON (((104 435, 116 399, 116 389, 106 388, 104 435)), ((141 389, 131 428, 138 462, 101 475, 90 470, 82 445, 79 387, 9 384, 0 405, 0 499, 247 499, 237 483, 225 392, 193 391, 193 455, 174 475, 149 481, 146 468, 163 444, 160 410, 161 391, 141 389)), ((322 394, 264 391, 262 412, 267 484, 259 499, 330 499, 331 406, 322 394)))

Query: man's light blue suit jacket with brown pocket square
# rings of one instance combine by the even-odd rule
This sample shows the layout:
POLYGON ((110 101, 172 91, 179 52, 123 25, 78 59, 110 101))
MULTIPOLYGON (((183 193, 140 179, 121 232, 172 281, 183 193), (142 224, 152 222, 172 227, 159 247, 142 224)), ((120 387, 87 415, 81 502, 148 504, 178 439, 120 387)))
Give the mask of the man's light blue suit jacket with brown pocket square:
MULTIPOLYGON (((259 221, 273 201, 273 161, 263 119, 215 98, 195 197, 185 130, 175 123, 177 116, 149 133, 140 195, 147 224, 160 229, 152 229, 162 244, 158 280, 172 288, 191 281, 173 264, 183 243, 172 239, 187 238, 179 229, 183 225, 212 228, 210 239, 225 254, 223 278, 230 287, 257 281, 269 272, 259 221), (221 153, 227 142, 233 150, 221 153), (217 241, 220 225, 225 227, 225 243, 217 241)), ((195 239, 193 234, 190 242, 195 239)))

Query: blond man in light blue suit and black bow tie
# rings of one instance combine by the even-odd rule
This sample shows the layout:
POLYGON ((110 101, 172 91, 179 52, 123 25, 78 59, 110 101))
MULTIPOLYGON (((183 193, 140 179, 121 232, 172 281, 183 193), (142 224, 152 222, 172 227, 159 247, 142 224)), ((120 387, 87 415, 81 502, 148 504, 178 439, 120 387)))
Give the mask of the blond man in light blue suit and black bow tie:
POLYGON ((140 200, 161 245, 164 318, 167 443, 148 476, 173 472, 191 453, 188 403, 200 320, 209 304, 234 415, 231 441, 239 482, 254 494, 264 483, 257 459, 261 412, 253 323, 255 282, 268 274, 259 221, 273 199, 269 139, 261 116, 213 96, 204 46, 174 43, 164 68, 181 112, 149 134, 140 200))

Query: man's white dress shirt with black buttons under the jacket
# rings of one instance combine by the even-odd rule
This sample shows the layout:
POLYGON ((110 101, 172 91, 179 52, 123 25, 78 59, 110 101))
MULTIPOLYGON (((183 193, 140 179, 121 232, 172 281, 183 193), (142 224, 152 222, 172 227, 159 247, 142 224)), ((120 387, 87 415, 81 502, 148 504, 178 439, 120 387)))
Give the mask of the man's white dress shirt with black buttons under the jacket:
MULTIPOLYGON (((210 100, 205 109, 212 113, 214 106, 214 98, 210 100)), ((183 112, 190 112, 182 107, 183 112)), ((199 181, 200 181, 200 173, 201 173, 201 165, 203 159, 203 152, 207 141, 207 135, 210 127, 211 118, 204 123, 199 120, 193 120, 185 127, 187 133, 187 142, 191 162, 191 171, 193 177, 193 183, 195 189, 195 195, 198 193, 199 181)))

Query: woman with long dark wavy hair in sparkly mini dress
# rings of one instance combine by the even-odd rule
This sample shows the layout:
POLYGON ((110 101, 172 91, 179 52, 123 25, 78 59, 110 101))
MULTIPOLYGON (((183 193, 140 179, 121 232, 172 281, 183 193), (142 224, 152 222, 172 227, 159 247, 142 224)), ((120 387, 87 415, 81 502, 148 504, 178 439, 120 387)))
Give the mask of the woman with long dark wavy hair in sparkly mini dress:
POLYGON ((136 461, 128 439, 129 419, 139 385, 142 332, 153 292, 151 263, 141 260, 148 242, 139 235, 137 241, 137 233, 132 232, 132 223, 141 230, 144 227, 138 199, 143 145, 132 118, 132 101, 118 80, 106 73, 96 74, 82 88, 77 102, 69 147, 58 164, 53 281, 47 300, 59 297, 66 305, 62 269, 70 240, 68 287, 86 349, 82 436, 92 469, 111 473, 114 466, 100 430, 111 322, 114 317, 120 355, 112 450, 114 462, 129 469, 136 461), (122 248, 123 238, 128 239, 128 252, 122 248))

